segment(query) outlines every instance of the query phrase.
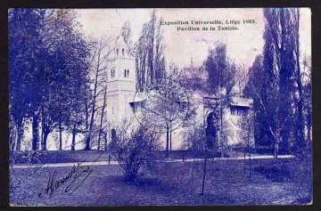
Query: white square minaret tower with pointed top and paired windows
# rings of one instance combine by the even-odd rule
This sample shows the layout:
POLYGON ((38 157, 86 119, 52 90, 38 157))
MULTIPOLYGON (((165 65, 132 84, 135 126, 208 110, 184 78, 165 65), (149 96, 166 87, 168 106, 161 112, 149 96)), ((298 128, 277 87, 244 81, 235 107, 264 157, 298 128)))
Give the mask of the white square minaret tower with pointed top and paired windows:
POLYGON ((107 61, 107 118, 112 126, 117 126, 122 119, 133 117, 129 102, 136 93, 135 58, 128 53, 123 37, 116 39, 107 61))

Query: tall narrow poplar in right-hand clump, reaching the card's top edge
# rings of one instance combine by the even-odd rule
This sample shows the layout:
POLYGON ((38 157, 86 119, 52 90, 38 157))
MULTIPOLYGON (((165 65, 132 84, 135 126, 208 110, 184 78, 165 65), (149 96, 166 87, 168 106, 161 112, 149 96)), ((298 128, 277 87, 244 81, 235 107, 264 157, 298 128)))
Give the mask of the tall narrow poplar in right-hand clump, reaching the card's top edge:
POLYGON ((293 39, 291 37, 290 11, 286 9, 267 9, 264 46, 264 69, 271 76, 272 101, 268 103, 270 133, 274 137, 275 156, 277 157, 281 136, 289 137, 291 127, 291 91, 293 61, 293 39), (273 111, 272 111, 273 110, 273 111))

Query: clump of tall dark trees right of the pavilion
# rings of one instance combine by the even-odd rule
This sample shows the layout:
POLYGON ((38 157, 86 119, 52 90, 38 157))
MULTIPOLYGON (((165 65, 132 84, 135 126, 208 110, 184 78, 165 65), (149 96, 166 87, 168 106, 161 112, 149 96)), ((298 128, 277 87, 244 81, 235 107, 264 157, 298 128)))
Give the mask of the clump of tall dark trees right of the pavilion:
MULTIPOLYGON (((264 10, 266 26, 263 56, 251 67, 246 94, 254 99, 259 141, 301 154, 306 147, 303 118, 303 74, 300 70, 300 11, 292 8, 264 10)), ((308 104, 310 103, 310 99, 308 104)), ((310 117, 309 117, 310 118, 310 117)), ((309 120, 308 120, 309 121, 309 120)))

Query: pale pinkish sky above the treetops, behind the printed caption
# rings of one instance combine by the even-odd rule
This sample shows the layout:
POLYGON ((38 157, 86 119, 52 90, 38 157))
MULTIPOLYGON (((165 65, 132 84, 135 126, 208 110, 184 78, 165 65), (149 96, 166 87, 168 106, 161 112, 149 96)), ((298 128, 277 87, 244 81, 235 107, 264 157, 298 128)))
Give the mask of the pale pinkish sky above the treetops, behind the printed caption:
MULTIPOLYGON (((78 21, 87 36, 116 37, 122 25, 129 21, 135 43, 142 34, 143 24, 150 20, 152 9, 81 9, 77 10, 78 21)), ((163 21, 188 21, 188 25, 161 25, 164 37, 164 54, 167 63, 174 62, 177 67, 200 66, 206 59, 209 48, 216 42, 226 44, 227 56, 237 65, 251 67, 255 57, 262 53, 265 19, 261 8, 231 9, 155 9, 157 17, 163 21), (221 25, 191 24, 191 20, 219 20, 221 25), (240 24, 226 25, 226 21, 240 20, 240 24), (255 24, 243 24, 243 20, 255 20, 255 24), (238 30, 218 30, 218 26, 235 26, 238 30), (201 30, 177 31, 177 27, 199 27, 201 30), (202 30, 215 27, 216 30, 202 30)), ((300 9, 300 51, 311 55, 311 12, 309 8, 300 9)), ((160 20, 158 20, 160 21, 160 20)))

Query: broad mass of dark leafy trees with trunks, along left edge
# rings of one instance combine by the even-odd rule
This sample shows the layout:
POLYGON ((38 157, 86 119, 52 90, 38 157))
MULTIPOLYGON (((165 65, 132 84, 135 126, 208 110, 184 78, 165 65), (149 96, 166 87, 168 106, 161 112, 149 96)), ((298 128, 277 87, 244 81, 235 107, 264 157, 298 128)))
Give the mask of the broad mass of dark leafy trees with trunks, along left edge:
MULTIPOLYGON (((32 119, 32 150, 62 130, 75 105, 82 103, 87 84, 88 45, 78 32, 77 13, 71 10, 12 9, 9 12, 10 110, 18 131, 32 119)), ((75 113, 75 112, 73 112, 75 113)), ((68 126, 67 126, 68 127, 68 126)))

